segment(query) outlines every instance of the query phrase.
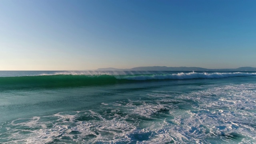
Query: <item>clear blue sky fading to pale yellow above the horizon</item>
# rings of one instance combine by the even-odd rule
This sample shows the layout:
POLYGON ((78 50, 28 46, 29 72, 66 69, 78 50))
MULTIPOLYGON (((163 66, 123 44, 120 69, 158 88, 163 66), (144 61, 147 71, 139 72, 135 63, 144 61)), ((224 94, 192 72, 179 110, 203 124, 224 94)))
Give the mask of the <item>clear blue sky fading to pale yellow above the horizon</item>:
POLYGON ((0 0, 0 70, 256 67, 256 0, 0 0))

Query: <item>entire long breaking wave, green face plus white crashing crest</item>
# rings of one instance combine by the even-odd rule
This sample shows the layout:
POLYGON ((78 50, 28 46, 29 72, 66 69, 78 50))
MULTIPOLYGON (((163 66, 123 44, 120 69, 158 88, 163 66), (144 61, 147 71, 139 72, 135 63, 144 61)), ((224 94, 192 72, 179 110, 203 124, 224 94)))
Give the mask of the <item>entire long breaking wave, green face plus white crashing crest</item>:
POLYGON ((40 76, 14 76, 0 77, 0 89, 20 89, 20 88, 60 88, 74 86, 102 86, 109 84, 120 84, 126 82, 136 82, 145 80, 182 80, 196 78, 227 78, 236 76, 256 76, 256 73, 174 73, 174 74, 148 74, 139 72, 132 74, 126 73, 104 73, 92 75, 92 73, 70 73, 62 72, 54 74, 42 74, 40 76), (121 74, 121 75, 119 75, 121 74))

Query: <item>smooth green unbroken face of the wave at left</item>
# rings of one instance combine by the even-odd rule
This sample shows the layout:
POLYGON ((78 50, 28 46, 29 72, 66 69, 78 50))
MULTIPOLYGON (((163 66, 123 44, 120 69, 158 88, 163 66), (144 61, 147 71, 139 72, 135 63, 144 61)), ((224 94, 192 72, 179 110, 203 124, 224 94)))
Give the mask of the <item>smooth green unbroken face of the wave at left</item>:
POLYGON ((116 84, 117 82, 118 80, 114 76, 110 75, 48 75, 0 77, 0 88, 59 88, 116 84))

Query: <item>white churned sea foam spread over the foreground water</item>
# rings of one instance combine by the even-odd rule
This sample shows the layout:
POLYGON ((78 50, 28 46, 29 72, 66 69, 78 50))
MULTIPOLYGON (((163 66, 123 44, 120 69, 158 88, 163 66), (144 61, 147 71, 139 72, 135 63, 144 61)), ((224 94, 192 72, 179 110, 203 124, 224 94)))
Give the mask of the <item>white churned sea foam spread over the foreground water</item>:
POLYGON ((208 86, 183 94, 149 92, 95 110, 17 119, 3 143, 254 143, 256 84, 208 86))

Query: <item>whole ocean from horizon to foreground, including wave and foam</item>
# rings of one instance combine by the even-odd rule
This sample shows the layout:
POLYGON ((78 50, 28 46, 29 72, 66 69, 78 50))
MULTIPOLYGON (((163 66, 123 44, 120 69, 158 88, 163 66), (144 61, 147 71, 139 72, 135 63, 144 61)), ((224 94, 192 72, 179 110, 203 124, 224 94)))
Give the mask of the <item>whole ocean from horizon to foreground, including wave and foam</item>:
POLYGON ((256 72, 0 71, 3 144, 253 144, 256 72))

